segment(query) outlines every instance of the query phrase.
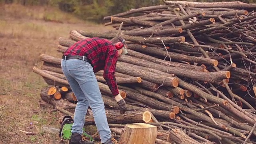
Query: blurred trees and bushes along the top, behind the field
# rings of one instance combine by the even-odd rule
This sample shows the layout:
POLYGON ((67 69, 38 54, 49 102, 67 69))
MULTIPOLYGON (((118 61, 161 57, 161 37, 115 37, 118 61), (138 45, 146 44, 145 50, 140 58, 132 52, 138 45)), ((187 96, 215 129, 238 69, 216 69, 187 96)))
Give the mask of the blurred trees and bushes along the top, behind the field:
MULTIPOLYGON (((189 0, 197 2, 220 2, 237 0, 189 0)), ((240 0, 246 3, 255 3, 256 0, 240 0)), ((54 6, 63 12, 72 13, 82 20, 104 22, 104 16, 125 12, 131 8, 140 8, 164 4, 162 0, 0 0, 5 4, 18 3, 24 6, 54 6)))

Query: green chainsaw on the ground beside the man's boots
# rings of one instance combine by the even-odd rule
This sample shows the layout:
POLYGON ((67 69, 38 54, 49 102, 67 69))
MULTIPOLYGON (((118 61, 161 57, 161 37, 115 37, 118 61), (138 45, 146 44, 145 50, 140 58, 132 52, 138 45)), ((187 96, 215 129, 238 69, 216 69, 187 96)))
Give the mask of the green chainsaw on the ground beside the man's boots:
MULTIPOLYGON (((60 126, 59 137, 61 137, 64 140, 70 140, 71 134, 72 134, 71 128, 73 123, 74 123, 74 120, 72 119, 71 116, 64 116, 62 120, 62 124, 60 126)), ((92 144, 94 144, 94 139, 92 138, 92 136, 90 136, 86 132, 83 132, 83 135, 87 137, 87 139, 89 139, 87 140, 88 142, 91 142, 92 144)))

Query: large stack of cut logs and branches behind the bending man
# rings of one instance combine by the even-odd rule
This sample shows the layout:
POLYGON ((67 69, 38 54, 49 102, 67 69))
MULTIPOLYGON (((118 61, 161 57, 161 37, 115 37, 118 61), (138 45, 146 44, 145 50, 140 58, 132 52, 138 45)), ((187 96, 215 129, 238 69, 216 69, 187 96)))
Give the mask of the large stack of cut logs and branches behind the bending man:
MULTIPOLYGON (((158 126, 156 144, 256 143, 255 9, 242 2, 165 1, 104 17, 114 30, 72 30, 69 38, 59 38, 57 50, 117 33, 128 42, 128 54, 116 65, 126 114, 119 114, 103 71, 95 74, 109 125, 119 136, 125 124, 143 122, 158 126)), ((61 58, 42 54, 40 60, 43 65, 33 71, 49 84, 42 100, 73 114, 67 109, 75 108, 76 98, 61 58)), ((90 112, 85 124, 94 124, 90 112)))

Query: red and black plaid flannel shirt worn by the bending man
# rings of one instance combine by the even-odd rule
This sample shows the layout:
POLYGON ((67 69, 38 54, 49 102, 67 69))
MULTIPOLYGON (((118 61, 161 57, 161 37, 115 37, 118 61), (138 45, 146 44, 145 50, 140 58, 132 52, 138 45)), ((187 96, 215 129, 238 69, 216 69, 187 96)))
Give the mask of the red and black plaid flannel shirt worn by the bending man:
POLYGON ((103 38, 87 38, 70 46, 63 55, 86 56, 91 61, 94 73, 104 70, 104 79, 113 96, 119 94, 114 75, 116 72, 118 51, 112 42, 103 38))

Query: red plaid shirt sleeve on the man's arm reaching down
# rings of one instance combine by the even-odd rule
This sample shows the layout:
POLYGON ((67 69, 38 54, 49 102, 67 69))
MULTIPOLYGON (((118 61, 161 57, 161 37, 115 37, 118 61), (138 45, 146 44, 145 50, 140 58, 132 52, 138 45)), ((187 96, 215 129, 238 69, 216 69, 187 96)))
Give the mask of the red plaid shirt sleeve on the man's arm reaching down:
POLYGON ((106 80, 110 91, 112 92, 113 96, 119 94, 119 90, 116 84, 116 62, 118 59, 118 52, 117 50, 109 50, 106 57, 105 67, 104 67, 104 74, 103 77, 106 80))

